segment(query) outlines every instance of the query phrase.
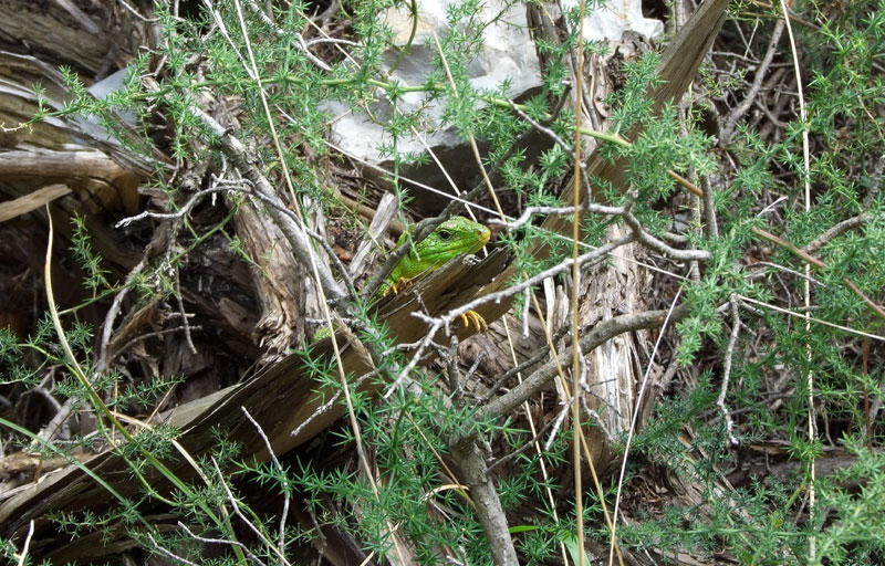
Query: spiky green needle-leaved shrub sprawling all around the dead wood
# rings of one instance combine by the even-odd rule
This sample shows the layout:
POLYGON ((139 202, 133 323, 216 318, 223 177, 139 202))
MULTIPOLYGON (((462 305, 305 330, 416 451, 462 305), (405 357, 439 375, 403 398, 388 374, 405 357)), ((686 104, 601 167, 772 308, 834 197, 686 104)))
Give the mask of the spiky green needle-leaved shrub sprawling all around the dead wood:
MULTIPOLYGON (((561 412, 564 401, 552 385, 528 401, 530 412, 546 427, 540 433, 521 412, 485 417, 486 398, 516 389, 518 380, 487 391, 500 376, 485 375, 485 367, 452 375, 457 363, 447 357, 455 347, 433 350, 441 363, 409 366, 410 354, 389 338, 375 302, 360 298, 358 283, 355 296, 346 298, 353 333, 339 345, 364 348, 374 364, 372 375, 361 380, 363 376, 345 368, 342 378, 335 360, 320 354, 320 340, 304 339, 291 353, 300 359, 303 378, 315 386, 311 401, 346 406, 354 421, 322 432, 298 453, 273 454, 266 461, 243 453, 226 430, 216 431, 210 453, 191 459, 176 442, 181 430, 154 420, 144 426, 149 420, 145 415, 165 408, 164 399, 186 386, 186 379, 156 375, 158 369, 139 363, 137 354, 128 357, 149 347, 145 336, 127 337, 116 345, 116 357, 107 358, 106 338, 85 322, 87 313, 117 296, 115 308, 127 310, 127 322, 138 308, 149 312, 160 301, 178 305, 181 285, 187 284, 181 274, 210 244, 269 276, 263 258, 250 258, 236 234, 241 207, 264 206, 254 192, 216 191, 223 193, 219 199, 226 208, 208 229, 186 208, 200 188, 180 182, 178 172, 199 166, 227 174, 235 169, 218 134, 200 117, 202 111, 218 101, 229 105, 221 106, 236 123, 231 134, 248 142, 252 165, 272 179, 287 206, 295 209, 292 198, 299 207, 315 203, 300 209, 300 220, 310 227, 315 217, 343 217, 347 231, 363 230, 355 214, 341 213, 337 195, 330 190, 329 171, 344 163, 326 143, 335 117, 331 101, 382 126, 384 137, 375 149, 389 159, 384 180, 403 207, 416 196, 404 171, 430 163, 424 153, 403 150, 405 142, 415 132, 426 136, 451 128, 481 147, 482 166, 492 170, 508 213, 518 217, 529 207, 571 205, 561 196, 574 171, 575 115, 571 103, 559 103, 563 96, 574 97, 570 73, 577 49, 594 64, 612 61, 603 59, 608 55, 603 44, 579 45, 576 11, 569 10, 556 22, 562 27, 556 41, 537 41, 545 62, 542 85, 514 112, 511 80, 488 88, 471 82, 471 65, 500 15, 487 15, 478 0, 454 4, 447 13, 449 29, 436 40, 415 40, 394 52, 402 54, 397 64, 408 63, 409 49, 433 54, 420 84, 388 75, 394 31, 378 17, 392 7, 412 13, 417 4, 345 2, 332 14, 341 36, 319 42, 322 48, 304 49, 301 42, 319 4, 241 3, 242 22, 232 1, 215 2, 215 11, 199 10, 187 18, 174 15, 167 2, 157 2, 158 51, 154 56, 137 54, 125 86, 104 99, 92 97, 70 67, 60 70, 70 91, 61 108, 53 108, 45 91, 34 85, 34 123, 82 118, 102 125, 131 157, 154 169, 143 190, 162 196, 152 202, 162 202, 166 216, 156 218, 178 218, 168 224, 175 227, 168 232, 168 249, 157 250, 128 276, 115 279, 95 251, 90 222, 75 216, 71 253, 86 298, 55 321, 40 317, 29 337, 0 328, 0 385, 9 388, 1 394, 50 395, 64 410, 94 415, 103 434, 83 431, 38 440, 35 432, 4 420, 18 448, 82 465, 77 457, 84 449, 113 443, 115 454, 129 467, 131 481, 144 488, 138 497, 123 497, 102 484, 113 505, 102 512, 53 513, 49 518, 60 533, 72 538, 97 533, 105 542, 125 533, 158 559, 220 565, 296 563, 304 547, 322 546, 324 533, 336 530, 378 564, 492 564, 483 528, 488 525, 479 518, 475 493, 459 483, 462 470, 452 462, 454 440, 470 438, 490 467, 508 533, 525 564, 574 559, 580 518, 575 496, 584 502, 585 534, 596 548, 608 546, 605 517, 621 497, 621 515, 614 517, 618 548, 636 563, 645 564, 647 557, 656 564, 677 564, 687 562, 686 555, 699 563, 741 565, 885 560, 884 429, 875 418, 885 382, 883 316, 876 310, 885 302, 885 1, 842 2, 837 8, 815 0, 793 4, 790 33, 800 51, 799 84, 792 78, 784 32, 775 45, 778 70, 768 71, 780 73, 780 82, 763 83, 752 94, 753 75, 782 14, 759 2, 732 2, 715 53, 683 99, 653 112, 648 93, 662 81, 660 56, 654 50, 618 63, 616 87, 604 99, 585 97, 606 113, 607 130, 591 132, 584 122, 584 154, 589 138, 595 138, 597 155, 610 164, 618 160, 626 186, 587 180, 585 203, 621 207, 621 212, 583 214, 582 253, 608 243, 615 226, 623 233, 639 226, 646 239, 636 243, 641 251, 631 261, 676 275, 660 275, 656 285, 636 283, 646 285, 639 294, 655 308, 667 308, 678 297, 687 311, 666 329, 656 327, 663 339, 655 358, 650 346, 634 353, 632 363, 643 369, 638 374, 652 366, 643 401, 650 397, 654 403, 644 408, 641 428, 631 439, 623 485, 618 491, 617 473, 606 470, 600 491, 585 482, 582 494, 574 494, 571 483, 575 429, 569 428, 571 416, 561 412), (272 12, 257 13, 271 4, 272 12), (721 51, 739 41, 747 42, 740 53, 721 51), (152 66, 157 60, 163 61, 162 73, 152 66), (723 60, 730 70, 723 71, 723 60), (800 87, 804 120, 795 97, 800 87), (416 95, 424 105, 406 106, 416 95), (746 96, 752 98, 752 109, 723 136, 723 116, 746 96), (431 112, 436 104, 440 116, 431 112), (132 126, 118 113, 128 116, 132 126), (546 142, 528 148, 525 139, 538 134, 539 124, 546 142), (176 175, 169 175, 171 169, 176 175), (691 187, 675 180, 674 174, 691 187), (819 245, 827 230, 855 220, 819 245), (760 235, 763 232, 780 241, 760 235), (698 252, 704 259, 686 260, 674 249, 698 252), (805 273, 809 263, 814 268, 805 273), (462 381, 471 387, 452 386, 462 381), (123 419, 124 412, 132 418, 123 419), (116 424, 126 424, 122 432, 128 441, 119 441, 121 430, 112 430, 116 424), (169 462, 187 462, 187 478, 169 475, 169 462), (157 474, 164 474, 170 488, 155 490, 148 478, 157 474), (267 500, 279 504, 262 504, 267 500), (148 524, 144 510, 158 505, 176 515, 176 524, 148 524), (302 521, 294 521, 292 513, 282 515, 294 505, 302 521), (207 547, 214 548, 212 557, 207 557, 207 547)), ((221 179, 211 182, 217 181, 221 179)), ((407 218, 405 208, 400 218, 407 218)), ((571 240, 543 228, 542 221, 539 214, 496 234, 497 245, 512 254, 517 275, 511 284, 564 265, 571 256, 571 240), (538 253, 541 248, 543 255, 538 253)), ((326 249, 316 244, 314 251, 322 256, 326 249)), ((596 263, 605 262, 614 260, 596 263)), ((302 268, 310 271, 309 265, 302 268)), ((594 272, 585 266, 583 273, 594 272)), ((560 273, 553 279, 568 290, 570 277, 560 273)), ((525 295, 519 293, 513 312, 520 316, 523 301, 525 295)), ((618 303, 614 310, 620 307, 618 303)), ((611 317, 620 314, 629 313, 614 312, 611 317)), ((584 331, 594 328, 582 328, 582 335, 584 331)), ((568 337, 563 345, 571 347, 582 337, 568 337)), ((601 398, 596 386, 587 386, 589 398, 601 398)), ((635 389, 622 398, 638 402, 639 386, 635 389)), ((281 413, 299 409, 288 407, 285 399, 279 402, 281 413)), ((626 434, 608 436, 608 430, 596 428, 614 413, 629 420, 634 407, 603 405, 584 415, 583 430, 598 433, 607 451, 623 452, 626 434)), ((20 542, 0 543, 4 556, 18 560, 20 542)))

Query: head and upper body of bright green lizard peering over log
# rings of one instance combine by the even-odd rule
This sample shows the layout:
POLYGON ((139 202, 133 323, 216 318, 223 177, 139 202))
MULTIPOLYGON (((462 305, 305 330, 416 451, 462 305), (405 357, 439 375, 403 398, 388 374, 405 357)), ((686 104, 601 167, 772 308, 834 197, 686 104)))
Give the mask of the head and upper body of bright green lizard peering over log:
MULTIPOLYGON (((476 253, 486 245, 491 233, 485 226, 464 217, 452 217, 434 230, 430 235, 415 244, 396 264, 394 271, 378 289, 376 296, 396 292, 403 283, 421 273, 441 268, 442 264, 462 253, 476 253)), ((406 245, 408 237, 399 237, 394 250, 406 245)))

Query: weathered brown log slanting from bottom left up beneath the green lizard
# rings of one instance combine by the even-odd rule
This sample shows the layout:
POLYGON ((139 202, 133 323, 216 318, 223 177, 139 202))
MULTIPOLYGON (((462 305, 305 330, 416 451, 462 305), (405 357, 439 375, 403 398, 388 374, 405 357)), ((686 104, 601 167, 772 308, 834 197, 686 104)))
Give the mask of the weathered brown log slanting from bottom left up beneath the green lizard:
MULTIPOLYGON (((417 282, 409 291, 386 301, 381 306, 381 316, 397 342, 416 342, 425 336, 427 329, 424 322, 412 316, 416 308, 416 294, 420 295, 421 304, 430 315, 445 312, 473 297, 481 285, 500 274, 506 259, 504 253, 494 253, 473 266, 452 261, 417 282)), ((460 327, 458 331, 460 335, 470 332, 460 327)), ((316 355, 330 355, 330 340, 326 338, 315 346, 316 355)), ((351 375, 362 376, 373 369, 372 361, 365 357, 362 348, 343 347, 342 360, 345 371, 351 375)), ((368 392, 376 392, 377 386, 375 389, 368 387, 364 386, 368 392)), ((230 440, 242 444, 243 458, 254 455, 267 459, 269 454, 264 442, 242 409, 248 410, 261 426, 274 452, 282 454, 313 438, 342 415, 340 402, 322 407, 319 390, 320 384, 304 373, 302 358, 290 355, 248 382, 173 409, 163 417, 163 421, 181 429, 178 442, 194 458, 210 453, 215 446, 214 431, 220 429, 228 433, 230 440)), ((185 480, 196 476, 181 458, 169 460, 166 464, 185 480)), ((139 482, 133 481, 125 461, 111 451, 95 455, 84 465, 124 496, 136 495, 143 490, 139 482)), ((148 469, 145 474, 159 493, 168 492, 168 483, 155 470, 148 469)), ((114 502, 111 494, 83 470, 69 467, 44 476, 40 483, 0 505, 0 536, 21 541, 29 523, 34 521, 35 534, 31 543, 34 556, 58 563, 100 557, 103 553, 101 548, 72 544, 66 537, 59 537, 49 524, 46 513, 83 509, 100 512, 114 502)))

